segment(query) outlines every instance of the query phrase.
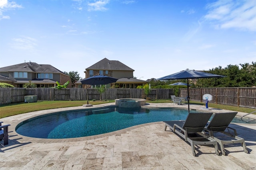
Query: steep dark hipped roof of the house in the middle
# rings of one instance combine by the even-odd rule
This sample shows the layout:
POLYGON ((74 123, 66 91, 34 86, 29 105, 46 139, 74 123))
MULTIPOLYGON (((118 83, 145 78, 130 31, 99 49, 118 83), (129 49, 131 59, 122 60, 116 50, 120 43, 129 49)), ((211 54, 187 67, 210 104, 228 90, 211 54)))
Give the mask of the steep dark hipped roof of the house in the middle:
POLYGON ((98 63, 86 68, 86 70, 122 70, 122 71, 134 71, 132 68, 126 66, 120 61, 102 59, 98 63))

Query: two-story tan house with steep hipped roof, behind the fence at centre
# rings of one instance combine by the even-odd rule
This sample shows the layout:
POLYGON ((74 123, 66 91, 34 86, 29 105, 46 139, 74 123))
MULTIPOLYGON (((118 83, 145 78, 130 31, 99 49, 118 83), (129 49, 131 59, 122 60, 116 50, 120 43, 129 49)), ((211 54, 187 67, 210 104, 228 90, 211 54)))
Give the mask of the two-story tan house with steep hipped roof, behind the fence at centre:
MULTIPOLYGON (((94 75, 104 75, 118 78, 116 83, 113 83, 116 88, 136 88, 137 86, 147 83, 144 80, 138 80, 134 78, 133 72, 134 69, 126 66, 120 61, 108 60, 106 58, 86 68, 84 71, 86 78, 92 77, 94 75)), ((81 82, 76 82, 76 86, 82 87, 81 82)))

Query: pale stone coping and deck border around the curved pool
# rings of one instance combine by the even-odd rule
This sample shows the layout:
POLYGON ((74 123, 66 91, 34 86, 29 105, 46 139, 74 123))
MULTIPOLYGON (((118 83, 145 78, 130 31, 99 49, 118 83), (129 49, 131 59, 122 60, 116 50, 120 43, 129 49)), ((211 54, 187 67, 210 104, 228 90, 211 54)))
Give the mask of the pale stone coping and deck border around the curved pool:
MULTIPOLYGON (((103 109, 105 107, 117 107, 114 103, 108 103, 108 104, 99 104, 95 105, 92 107, 82 107, 82 106, 77 106, 77 107, 63 107, 63 108, 58 108, 58 109, 47 109, 47 110, 42 110, 42 111, 33 111, 29 113, 23 113, 20 115, 15 115, 15 116, 10 116, 6 117, 6 119, 10 119, 11 122, 4 121, 4 123, 9 123, 11 126, 9 126, 9 138, 11 139, 12 137, 15 137, 18 139, 20 143, 26 143, 26 142, 32 142, 32 143, 69 143, 69 142, 76 142, 76 141, 87 141, 87 140, 93 140, 93 139, 98 139, 102 137, 108 137, 108 136, 114 136, 114 135, 119 135, 122 133, 126 133, 127 131, 148 126, 148 125, 153 125, 153 124, 160 124, 162 121, 158 122, 152 122, 152 123, 144 123, 140 125, 135 125, 132 127, 128 127, 125 129, 120 129, 118 131, 113 131, 109 133, 104 133, 100 135, 92 135, 88 137, 76 137, 76 138, 66 138, 66 139, 43 139, 43 138, 34 138, 34 137, 27 137, 20 135, 16 132, 16 126, 21 123, 22 121, 26 119, 31 119, 36 116, 40 115, 45 115, 45 114, 50 114, 50 113, 55 113, 55 112, 60 112, 60 111, 68 111, 68 110, 78 110, 78 109, 95 109, 95 108, 100 108, 103 109), (16 118, 16 119, 11 119, 11 118, 16 118)), ((201 108, 202 106, 198 107, 198 105, 190 105, 190 109, 195 110, 195 111, 206 111, 206 112, 212 112, 212 113, 219 113, 219 112, 232 112, 230 110, 224 110, 224 109, 214 109, 211 108, 211 110, 204 110, 201 108)), ((152 103, 146 103, 146 105, 142 106, 142 108, 173 108, 173 109, 187 109, 186 105, 173 105, 172 103, 162 103, 162 104, 152 104, 152 103)), ((246 113, 238 112, 238 116, 244 115, 246 113)), ((251 115, 251 117, 256 118, 256 115, 251 115)), ((3 118, 4 119, 4 118, 3 118)), ((240 123, 236 123, 240 124, 240 123)), ((248 124, 248 125, 256 125, 256 124, 248 124)))

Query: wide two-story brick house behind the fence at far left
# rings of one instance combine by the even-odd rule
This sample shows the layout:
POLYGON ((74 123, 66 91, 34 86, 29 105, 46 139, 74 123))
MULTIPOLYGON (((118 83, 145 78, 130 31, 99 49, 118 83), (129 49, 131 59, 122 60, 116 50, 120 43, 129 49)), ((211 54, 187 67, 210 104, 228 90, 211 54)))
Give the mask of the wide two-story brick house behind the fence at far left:
POLYGON ((70 76, 64 74, 49 64, 20 63, 0 68, 0 82, 12 84, 14 87, 22 88, 24 84, 36 84, 40 87, 55 87, 56 81, 64 84, 70 81, 68 88, 71 88, 70 76))

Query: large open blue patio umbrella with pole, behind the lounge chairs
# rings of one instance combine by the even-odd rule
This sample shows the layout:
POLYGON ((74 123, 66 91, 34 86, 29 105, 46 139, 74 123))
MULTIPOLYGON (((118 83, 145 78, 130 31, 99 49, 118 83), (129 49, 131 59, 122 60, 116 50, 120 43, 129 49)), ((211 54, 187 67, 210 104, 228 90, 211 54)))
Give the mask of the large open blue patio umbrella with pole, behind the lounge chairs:
MULTIPOLYGON (((170 74, 168 76, 164 76, 161 78, 158 78, 156 80, 178 80, 178 79, 187 79, 187 88, 189 86, 188 84, 188 79, 195 79, 195 78, 217 78, 217 77, 226 77, 226 76, 221 76, 218 74, 211 74, 208 72, 202 72, 202 71, 196 71, 196 70, 183 70, 174 74, 170 74)), ((188 89, 188 113, 190 112, 189 110, 189 89, 188 89)))

